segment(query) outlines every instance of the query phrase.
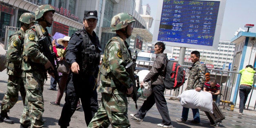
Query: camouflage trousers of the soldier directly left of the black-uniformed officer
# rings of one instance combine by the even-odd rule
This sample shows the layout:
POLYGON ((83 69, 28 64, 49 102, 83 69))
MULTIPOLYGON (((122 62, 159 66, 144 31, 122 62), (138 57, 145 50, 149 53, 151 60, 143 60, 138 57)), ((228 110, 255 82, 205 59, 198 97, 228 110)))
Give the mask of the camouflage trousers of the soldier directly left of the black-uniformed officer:
POLYGON ((42 79, 40 74, 34 76, 35 77, 23 77, 26 89, 26 98, 20 123, 31 124, 32 128, 40 128, 44 126, 42 118, 44 112, 44 79, 42 79))

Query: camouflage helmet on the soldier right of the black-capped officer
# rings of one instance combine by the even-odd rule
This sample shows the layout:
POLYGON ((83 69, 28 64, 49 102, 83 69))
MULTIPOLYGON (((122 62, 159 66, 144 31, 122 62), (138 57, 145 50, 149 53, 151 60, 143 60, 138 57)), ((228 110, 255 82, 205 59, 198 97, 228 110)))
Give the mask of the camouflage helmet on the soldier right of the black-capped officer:
POLYGON ((111 31, 123 29, 132 22, 135 22, 135 20, 133 19, 133 16, 128 13, 119 13, 114 15, 111 20, 111 31))

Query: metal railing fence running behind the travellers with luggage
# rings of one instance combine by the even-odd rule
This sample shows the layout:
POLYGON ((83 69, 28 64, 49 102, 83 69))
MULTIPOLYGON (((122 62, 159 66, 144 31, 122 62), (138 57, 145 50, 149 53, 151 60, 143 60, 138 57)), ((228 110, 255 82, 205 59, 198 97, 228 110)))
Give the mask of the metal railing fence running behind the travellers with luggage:
MULTIPOLYGON (((137 72, 139 72, 140 70, 150 70, 150 66, 148 65, 141 65, 141 62, 147 62, 148 61, 140 61, 140 65, 137 64, 137 67, 135 69, 137 69, 137 72)), ((153 63, 153 62, 151 62, 153 63)), ((143 63, 145 64, 145 63, 143 63)), ((186 74, 186 78, 188 78, 188 73, 189 73, 189 68, 191 66, 188 65, 181 65, 183 67, 183 69, 185 70, 185 74, 186 74)), ((217 82, 221 85, 221 89, 220 89, 220 93, 221 93, 221 100, 223 101, 230 101, 231 99, 233 99, 233 97, 236 97, 236 101, 237 101, 237 97, 238 97, 238 92, 239 92, 239 88, 237 88, 237 90, 234 90, 234 87, 236 87, 236 85, 240 85, 240 80, 238 82, 238 84, 236 83, 236 79, 238 78, 238 75, 240 75, 240 73, 238 72, 233 72, 233 71, 223 71, 223 70, 218 70, 218 69, 210 69, 208 68, 208 70, 210 71, 210 79, 216 79, 217 82), (232 91, 236 91, 236 95, 232 96, 232 91)), ((255 77, 256 75, 254 74, 254 84, 255 85, 255 77)), ((187 87, 187 80, 185 81, 185 83, 183 84, 183 86, 181 86, 179 89, 176 90, 168 90, 166 89, 164 94, 165 96, 170 97, 170 99, 178 99, 177 96, 180 95, 183 91, 185 91, 185 88, 187 87)), ((249 98, 249 102, 247 104, 246 109, 253 109, 255 110, 256 107, 256 101, 254 103, 254 106, 250 106, 250 104, 252 104, 251 100, 252 100, 252 95, 254 92, 254 86, 252 86, 252 91, 250 93, 250 95, 248 96, 249 98)), ((239 98, 239 97, 238 97, 239 98)), ((248 100, 247 100, 248 101, 248 100)), ((222 104, 220 104, 221 106, 228 106, 229 103, 227 102, 222 102, 222 104)), ((234 102, 234 107, 236 107, 236 102, 234 102)), ((230 109, 230 107, 227 107, 228 109, 230 109)))

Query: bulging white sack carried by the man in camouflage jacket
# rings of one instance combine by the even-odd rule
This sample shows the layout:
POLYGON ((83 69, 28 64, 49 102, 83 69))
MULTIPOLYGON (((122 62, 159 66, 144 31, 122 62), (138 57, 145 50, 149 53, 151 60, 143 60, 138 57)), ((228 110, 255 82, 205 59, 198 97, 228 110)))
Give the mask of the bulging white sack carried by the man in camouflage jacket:
POLYGON ((198 108, 209 113, 212 111, 212 94, 204 91, 196 91, 195 89, 185 90, 178 96, 181 106, 185 108, 198 108))

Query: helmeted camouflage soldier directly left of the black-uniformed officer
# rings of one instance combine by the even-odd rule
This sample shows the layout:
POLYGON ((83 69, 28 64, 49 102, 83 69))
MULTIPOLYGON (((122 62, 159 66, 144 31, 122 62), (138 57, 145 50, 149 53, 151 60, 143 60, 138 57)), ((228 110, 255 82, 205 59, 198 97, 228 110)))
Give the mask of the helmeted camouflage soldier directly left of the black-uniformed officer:
POLYGON ((44 112, 43 85, 47 79, 47 69, 53 65, 43 54, 42 43, 48 43, 51 48, 50 35, 46 27, 53 24, 55 10, 48 4, 39 6, 35 11, 38 24, 26 31, 22 60, 22 77, 26 89, 25 106, 20 118, 20 128, 40 128, 44 126, 42 114, 44 112), (40 42, 40 39, 46 39, 40 42))

